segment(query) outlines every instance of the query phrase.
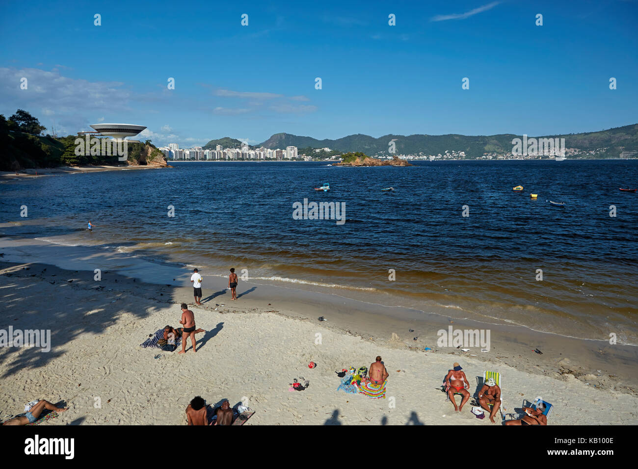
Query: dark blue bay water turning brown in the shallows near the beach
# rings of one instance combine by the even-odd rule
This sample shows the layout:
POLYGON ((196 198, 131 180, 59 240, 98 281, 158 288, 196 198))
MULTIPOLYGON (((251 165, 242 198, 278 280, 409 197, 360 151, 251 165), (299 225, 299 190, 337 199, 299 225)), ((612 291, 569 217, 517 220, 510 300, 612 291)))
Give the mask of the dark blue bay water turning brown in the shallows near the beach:
POLYGON ((0 235, 638 345, 638 194, 618 190, 637 186, 636 160, 176 162, 3 182, 0 235), (304 198, 345 204, 345 223, 295 220, 304 198))

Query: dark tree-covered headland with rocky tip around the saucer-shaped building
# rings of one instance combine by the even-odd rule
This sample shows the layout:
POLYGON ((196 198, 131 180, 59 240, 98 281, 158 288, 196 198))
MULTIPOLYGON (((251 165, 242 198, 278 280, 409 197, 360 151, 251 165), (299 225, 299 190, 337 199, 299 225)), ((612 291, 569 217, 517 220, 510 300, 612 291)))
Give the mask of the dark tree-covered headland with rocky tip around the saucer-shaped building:
MULTIPOLYGON (((46 128, 38 119, 19 109, 9 119, 0 114, 0 170, 17 171, 24 168, 52 168, 64 165, 121 165, 114 156, 76 155, 77 135, 54 138, 40 135, 46 128)), ((161 163, 164 154, 146 140, 144 144, 130 143, 127 146, 128 163, 145 165, 161 163)), ((89 152, 90 153, 90 152, 89 152)))

